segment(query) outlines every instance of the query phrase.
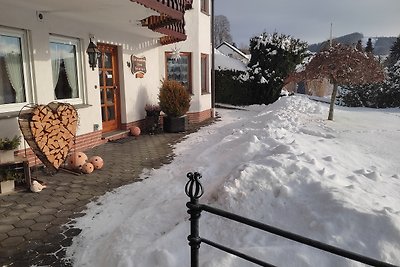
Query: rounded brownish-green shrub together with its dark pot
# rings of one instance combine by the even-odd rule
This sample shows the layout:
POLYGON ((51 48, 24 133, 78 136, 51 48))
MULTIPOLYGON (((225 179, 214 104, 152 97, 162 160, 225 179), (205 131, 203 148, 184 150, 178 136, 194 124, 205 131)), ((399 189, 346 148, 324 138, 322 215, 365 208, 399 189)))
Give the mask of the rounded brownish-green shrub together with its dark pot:
POLYGON ((186 112, 190 107, 190 94, 178 81, 163 80, 158 95, 160 108, 165 113, 164 131, 184 132, 186 130, 186 112))

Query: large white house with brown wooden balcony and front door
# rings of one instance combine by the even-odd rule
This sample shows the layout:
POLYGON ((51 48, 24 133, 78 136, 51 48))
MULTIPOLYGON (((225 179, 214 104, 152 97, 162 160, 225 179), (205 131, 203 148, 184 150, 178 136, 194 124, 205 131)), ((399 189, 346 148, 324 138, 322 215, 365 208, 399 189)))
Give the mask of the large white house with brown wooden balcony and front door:
POLYGON ((20 133, 27 104, 60 101, 79 114, 75 149, 94 147, 141 126, 163 78, 191 92, 190 122, 210 118, 209 1, 0 0, 0 137, 20 133), (90 37, 101 51, 93 69, 90 37))

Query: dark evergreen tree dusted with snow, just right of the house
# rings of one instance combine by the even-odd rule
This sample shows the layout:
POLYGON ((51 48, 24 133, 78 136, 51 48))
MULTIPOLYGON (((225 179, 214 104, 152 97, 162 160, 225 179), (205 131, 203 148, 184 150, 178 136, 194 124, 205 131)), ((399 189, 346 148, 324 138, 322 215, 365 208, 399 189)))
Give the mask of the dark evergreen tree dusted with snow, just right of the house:
POLYGON ((250 40, 248 74, 254 104, 278 100, 284 80, 302 61, 306 48, 306 42, 277 32, 264 32, 250 40))

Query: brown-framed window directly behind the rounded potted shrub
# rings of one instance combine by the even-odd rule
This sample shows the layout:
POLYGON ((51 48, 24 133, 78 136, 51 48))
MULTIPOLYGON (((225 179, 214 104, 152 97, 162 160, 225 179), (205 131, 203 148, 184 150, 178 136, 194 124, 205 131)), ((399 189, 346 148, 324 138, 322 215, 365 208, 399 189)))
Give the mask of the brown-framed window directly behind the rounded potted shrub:
POLYGON ((168 80, 180 81, 189 93, 192 93, 192 60, 191 53, 181 52, 179 58, 173 58, 171 52, 165 53, 166 74, 168 80))

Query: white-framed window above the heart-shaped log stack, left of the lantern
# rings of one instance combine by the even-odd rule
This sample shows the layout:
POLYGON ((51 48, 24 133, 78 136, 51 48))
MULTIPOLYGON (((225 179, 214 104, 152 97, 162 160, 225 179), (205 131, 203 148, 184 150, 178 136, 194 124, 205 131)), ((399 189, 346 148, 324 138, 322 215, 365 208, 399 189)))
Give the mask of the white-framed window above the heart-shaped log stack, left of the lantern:
POLYGON ((82 78, 78 39, 55 37, 50 39, 51 68, 54 97, 81 103, 82 78))

